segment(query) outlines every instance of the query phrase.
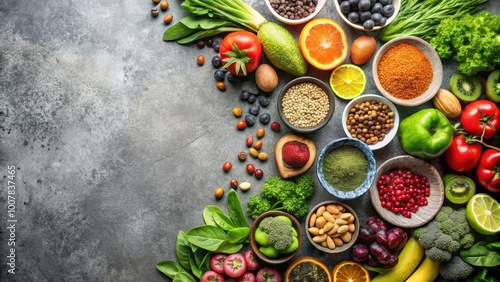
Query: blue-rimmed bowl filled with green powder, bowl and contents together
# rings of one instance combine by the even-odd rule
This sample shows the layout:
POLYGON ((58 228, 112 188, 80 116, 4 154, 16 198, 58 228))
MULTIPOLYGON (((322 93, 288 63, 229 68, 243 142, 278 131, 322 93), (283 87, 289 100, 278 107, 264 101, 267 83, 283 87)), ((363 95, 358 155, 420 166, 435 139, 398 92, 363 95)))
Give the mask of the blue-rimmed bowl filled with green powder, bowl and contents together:
POLYGON ((316 160, 321 186, 343 200, 355 199, 368 191, 376 171, 373 151, 359 139, 336 139, 321 150, 316 160))

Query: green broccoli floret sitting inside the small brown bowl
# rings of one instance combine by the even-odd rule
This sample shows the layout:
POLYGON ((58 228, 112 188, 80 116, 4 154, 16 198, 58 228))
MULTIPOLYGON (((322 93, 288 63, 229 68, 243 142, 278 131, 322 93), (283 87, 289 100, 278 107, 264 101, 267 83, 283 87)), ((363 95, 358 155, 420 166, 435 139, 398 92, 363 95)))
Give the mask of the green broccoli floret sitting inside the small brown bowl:
MULTIPOLYGON (((264 232, 268 234, 267 243, 275 248, 277 251, 286 250, 293 243, 292 227, 284 220, 277 217, 268 217, 267 223, 270 228, 264 232)), ((259 225, 260 226, 260 225, 259 225)), ((267 228, 266 228, 267 229, 267 228)))

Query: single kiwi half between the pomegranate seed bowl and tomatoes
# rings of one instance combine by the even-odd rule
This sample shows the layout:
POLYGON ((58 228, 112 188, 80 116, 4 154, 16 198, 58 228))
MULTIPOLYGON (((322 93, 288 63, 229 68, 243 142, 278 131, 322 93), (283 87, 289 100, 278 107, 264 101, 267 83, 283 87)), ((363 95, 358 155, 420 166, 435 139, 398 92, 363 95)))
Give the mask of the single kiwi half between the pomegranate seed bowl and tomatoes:
POLYGON ((476 193, 476 184, 465 175, 447 174, 443 176, 446 199, 454 204, 464 204, 476 193))

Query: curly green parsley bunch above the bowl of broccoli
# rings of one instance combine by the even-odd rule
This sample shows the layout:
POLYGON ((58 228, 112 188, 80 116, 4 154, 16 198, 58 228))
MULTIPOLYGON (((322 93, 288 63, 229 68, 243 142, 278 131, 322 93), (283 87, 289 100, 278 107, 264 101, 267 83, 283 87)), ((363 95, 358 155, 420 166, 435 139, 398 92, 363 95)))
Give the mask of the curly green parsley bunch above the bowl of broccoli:
POLYGON ((305 173, 293 180, 273 176, 264 182, 259 195, 252 195, 247 204, 247 214, 256 219, 269 210, 286 211, 299 218, 309 212, 307 199, 314 193, 314 181, 305 173))

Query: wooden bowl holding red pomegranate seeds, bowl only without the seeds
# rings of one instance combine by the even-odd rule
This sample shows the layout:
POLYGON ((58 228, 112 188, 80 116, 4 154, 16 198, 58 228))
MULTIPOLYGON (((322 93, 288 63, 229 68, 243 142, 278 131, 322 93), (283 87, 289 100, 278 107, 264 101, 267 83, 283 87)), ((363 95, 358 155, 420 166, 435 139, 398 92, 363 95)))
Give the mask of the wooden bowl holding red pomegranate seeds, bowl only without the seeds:
POLYGON ((441 209, 444 201, 444 185, 438 171, 430 163, 409 155, 398 156, 385 161, 377 169, 375 182, 370 188, 370 200, 378 214, 387 222, 403 228, 415 228, 431 221, 441 209), (431 186, 431 194, 427 197, 428 205, 419 207, 416 213, 412 213, 411 218, 387 210, 380 204, 377 181, 380 176, 394 169, 408 169, 414 174, 424 175, 431 186))

